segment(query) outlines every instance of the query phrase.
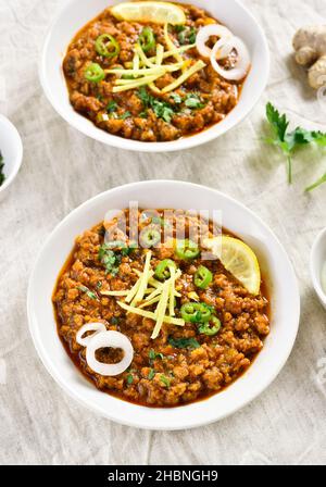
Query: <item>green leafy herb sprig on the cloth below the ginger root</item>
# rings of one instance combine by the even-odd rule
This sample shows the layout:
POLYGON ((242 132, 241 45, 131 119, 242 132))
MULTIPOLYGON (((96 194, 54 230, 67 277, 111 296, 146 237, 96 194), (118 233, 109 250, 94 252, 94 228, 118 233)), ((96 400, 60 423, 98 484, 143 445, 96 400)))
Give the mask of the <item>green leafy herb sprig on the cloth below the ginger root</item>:
MULTIPOLYGON (((280 114, 271 102, 266 104, 266 117, 271 126, 271 137, 265 139, 266 143, 278 147, 287 158, 288 183, 292 183, 292 157, 297 149, 309 143, 316 143, 319 147, 326 147, 326 134, 319 130, 306 130, 297 127, 288 130, 289 120, 286 114, 280 114)), ((326 183, 326 173, 319 177, 314 184, 305 188, 305 191, 318 187, 326 183)))

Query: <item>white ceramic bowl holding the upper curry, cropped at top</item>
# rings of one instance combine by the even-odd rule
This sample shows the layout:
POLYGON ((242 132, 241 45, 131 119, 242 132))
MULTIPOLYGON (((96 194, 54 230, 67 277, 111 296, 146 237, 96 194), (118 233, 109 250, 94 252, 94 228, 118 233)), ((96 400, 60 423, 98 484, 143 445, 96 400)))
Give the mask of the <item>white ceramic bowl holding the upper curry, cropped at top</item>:
POLYGON ((137 151, 166 152, 189 149, 208 142, 225 134, 249 114, 266 86, 269 53, 262 29, 248 10, 237 0, 181 0, 179 2, 192 3, 205 9, 228 26, 235 35, 241 37, 249 48, 252 60, 251 71, 246 79, 238 104, 223 122, 192 137, 170 142, 141 142, 105 133, 75 112, 68 100, 62 71, 62 61, 67 46, 87 22, 106 7, 117 2, 115 0, 70 0, 57 16, 46 38, 39 70, 41 85, 53 108, 67 123, 83 134, 109 146, 137 151))

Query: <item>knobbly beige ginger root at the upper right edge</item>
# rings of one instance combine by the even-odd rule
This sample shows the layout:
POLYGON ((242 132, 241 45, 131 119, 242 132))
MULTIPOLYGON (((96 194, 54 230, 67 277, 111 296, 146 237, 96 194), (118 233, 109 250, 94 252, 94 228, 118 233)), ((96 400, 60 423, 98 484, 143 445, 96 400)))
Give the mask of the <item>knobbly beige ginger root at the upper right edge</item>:
POLYGON ((326 86, 326 25, 300 28, 293 37, 293 48, 297 63, 309 67, 310 86, 326 86))

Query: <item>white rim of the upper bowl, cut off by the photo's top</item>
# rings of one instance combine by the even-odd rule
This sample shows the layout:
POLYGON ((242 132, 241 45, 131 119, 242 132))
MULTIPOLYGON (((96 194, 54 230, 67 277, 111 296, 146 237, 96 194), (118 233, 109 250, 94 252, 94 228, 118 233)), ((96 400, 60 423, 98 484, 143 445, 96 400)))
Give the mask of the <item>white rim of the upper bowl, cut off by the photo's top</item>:
MULTIPOLYGON (((236 127, 238 124, 240 124, 247 116, 252 112, 256 103, 259 102, 261 96, 263 95, 268 78, 269 78, 269 71, 271 71, 271 54, 268 49, 268 42, 266 39, 266 36, 264 34, 264 30, 262 29, 261 25, 256 21, 256 18, 253 16, 251 11, 242 4, 239 0, 229 0, 229 2, 234 2, 234 4, 242 11, 243 14, 246 14, 253 25, 256 28, 256 32, 260 37, 260 45, 261 49, 264 52, 263 61, 262 61, 262 70, 260 75, 260 89, 255 90, 252 93, 252 101, 250 105, 242 111, 237 110, 238 105, 236 105, 231 112, 229 112, 227 115, 236 111, 237 116, 235 116, 235 120, 230 123, 229 126, 227 126, 225 129, 221 129, 222 124, 224 121, 214 124, 204 130, 191 135, 189 137, 184 137, 177 140, 173 141, 166 141, 166 142, 147 142, 147 141, 139 141, 139 140, 131 140, 126 139, 124 137, 115 136, 113 134, 106 133, 105 130, 102 130, 98 127, 96 127, 91 121, 89 122, 89 125, 87 126, 80 126, 78 124, 78 120, 71 116, 71 112, 66 111, 64 108, 60 105, 60 103, 57 102, 57 97, 54 93, 52 93, 52 90, 48 84, 48 76, 47 76, 47 70, 46 70, 46 58, 47 58, 47 50, 48 46, 50 45, 52 32, 60 21, 61 16, 64 14, 65 10, 68 9, 70 4, 75 2, 76 0, 67 0, 61 9, 59 9, 57 15, 54 16, 52 23, 50 24, 50 27, 48 28, 48 32, 45 36, 42 49, 39 55, 38 61, 38 74, 41 87, 43 89, 43 92, 52 105, 52 108, 59 113, 59 115, 71 126, 73 126, 76 130, 80 132, 82 134, 86 135, 87 137, 92 138, 93 140, 100 141, 106 146, 115 147, 117 149, 124 149, 129 151, 137 151, 137 152, 174 152, 178 150, 187 150, 191 149, 193 147, 201 146, 203 143, 208 143, 217 137, 221 137, 222 135, 226 134, 228 130, 231 130, 234 127, 236 127), (89 127, 89 128, 88 128, 89 127), (95 130, 92 130, 95 128, 95 130)), ((124 0, 121 0, 124 1, 124 0)), ((175 0, 176 3, 178 0, 175 0)), ((204 7, 203 7, 204 8, 204 7)), ((62 70, 62 65, 60 66, 62 70)), ((250 72, 249 75, 250 76, 250 72)), ((246 82, 244 82, 246 83, 246 82)), ((241 96, 240 96, 241 98, 241 96)), ((82 115, 78 114, 78 116, 82 117, 82 115)), ((84 117, 85 118, 85 117, 84 117)), ((227 116, 226 118, 227 120, 227 116)))

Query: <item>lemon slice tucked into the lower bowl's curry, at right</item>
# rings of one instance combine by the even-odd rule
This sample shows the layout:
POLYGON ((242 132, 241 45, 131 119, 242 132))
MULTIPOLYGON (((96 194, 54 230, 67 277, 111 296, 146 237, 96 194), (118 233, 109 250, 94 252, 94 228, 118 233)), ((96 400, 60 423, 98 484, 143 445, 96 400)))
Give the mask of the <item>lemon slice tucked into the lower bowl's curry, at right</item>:
POLYGON ((252 295, 261 287, 261 271, 258 259, 242 240, 222 235, 204 241, 204 246, 218 257, 224 267, 230 272, 252 295))

